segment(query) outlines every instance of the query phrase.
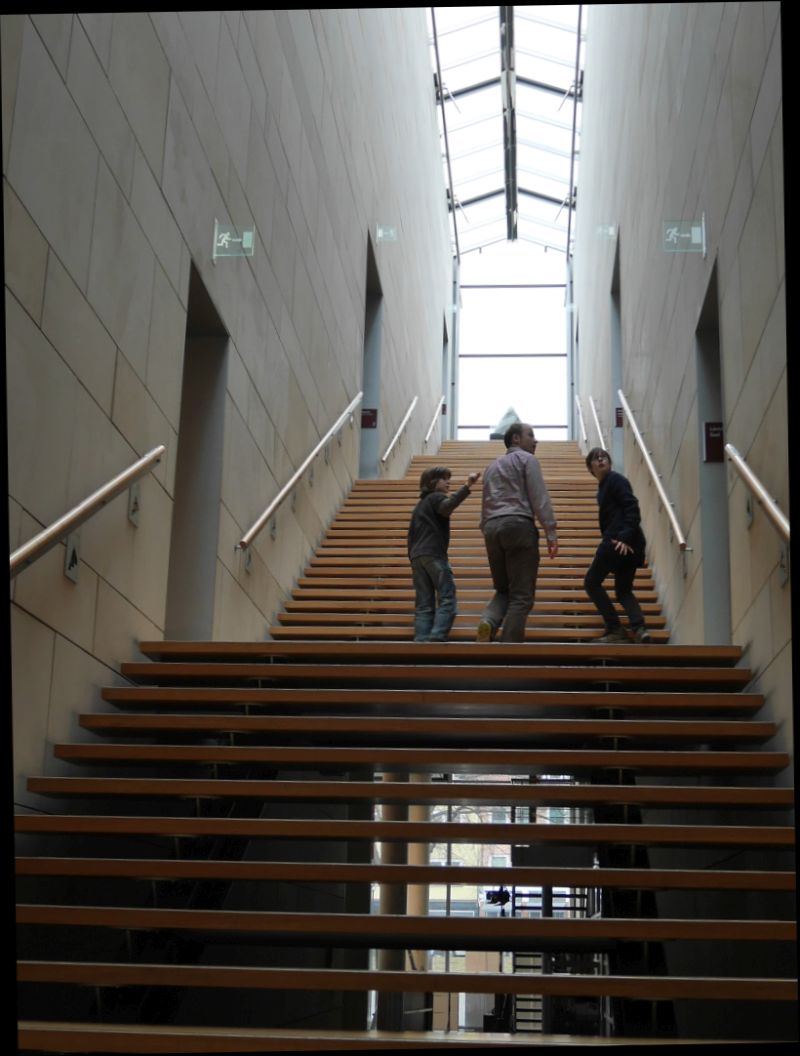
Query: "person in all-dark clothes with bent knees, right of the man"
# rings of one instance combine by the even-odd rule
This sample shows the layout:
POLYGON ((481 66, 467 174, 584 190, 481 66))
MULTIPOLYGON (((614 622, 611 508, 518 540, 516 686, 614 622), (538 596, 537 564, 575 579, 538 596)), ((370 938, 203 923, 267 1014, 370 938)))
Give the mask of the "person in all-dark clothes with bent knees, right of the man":
POLYGON ((620 622, 603 581, 614 573, 616 600, 625 609, 637 642, 651 641, 645 627, 639 602, 633 596, 633 577, 645 563, 645 535, 642 531, 639 502, 622 473, 611 469, 611 455, 604 448, 592 448, 586 466, 599 483, 597 506, 603 542, 584 579, 584 589, 599 609, 606 622, 606 634, 597 642, 627 642, 628 635, 620 622))

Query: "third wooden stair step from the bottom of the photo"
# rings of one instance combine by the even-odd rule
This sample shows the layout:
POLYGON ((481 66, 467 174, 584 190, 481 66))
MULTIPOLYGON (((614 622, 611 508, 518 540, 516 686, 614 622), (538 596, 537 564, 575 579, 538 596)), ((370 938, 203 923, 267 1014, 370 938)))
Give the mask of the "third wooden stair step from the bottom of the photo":
POLYGON ((568 948, 573 940, 608 942, 792 942, 794 921, 673 920, 610 917, 415 917, 246 909, 152 909, 18 903, 18 924, 122 930, 224 931, 271 942, 369 948, 568 948), (564 944, 564 945, 559 945, 564 944))

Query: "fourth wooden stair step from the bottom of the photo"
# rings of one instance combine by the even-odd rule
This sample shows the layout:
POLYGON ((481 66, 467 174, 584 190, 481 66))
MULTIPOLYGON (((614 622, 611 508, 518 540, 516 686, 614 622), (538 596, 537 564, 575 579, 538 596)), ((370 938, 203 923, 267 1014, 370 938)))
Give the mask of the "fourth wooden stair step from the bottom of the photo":
POLYGON ((348 884, 476 884, 625 890, 794 891, 794 872, 713 869, 580 869, 554 866, 413 866, 225 859, 16 859, 18 876, 292 881, 348 884))

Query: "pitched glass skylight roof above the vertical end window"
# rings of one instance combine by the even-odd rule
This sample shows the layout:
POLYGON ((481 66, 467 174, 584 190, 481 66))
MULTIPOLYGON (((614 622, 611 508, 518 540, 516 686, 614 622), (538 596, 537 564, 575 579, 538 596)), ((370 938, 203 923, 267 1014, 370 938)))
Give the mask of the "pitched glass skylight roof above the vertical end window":
MULTIPOLYGON (((455 222, 462 252, 508 237, 499 12, 499 7, 435 8, 453 190, 460 205, 455 222)), ((578 6, 514 7, 513 18, 517 238, 564 247, 578 6), (536 88, 525 83, 526 79, 548 87, 536 88), (544 213, 539 204, 545 206, 544 213)), ((574 168, 572 163, 573 173, 574 168)))

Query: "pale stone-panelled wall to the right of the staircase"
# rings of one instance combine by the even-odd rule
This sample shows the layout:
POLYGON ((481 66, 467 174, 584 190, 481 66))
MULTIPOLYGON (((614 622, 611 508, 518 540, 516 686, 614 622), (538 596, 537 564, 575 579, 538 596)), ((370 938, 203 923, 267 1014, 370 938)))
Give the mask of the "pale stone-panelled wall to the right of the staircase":
POLYGON ((691 547, 684 565, 626 426, 617 468, 642 504, 671 641, 744 646, 765 715, 783 723, 777 747, 791 749, 782 540, 758 507, 748 524, 748 493, 729 465, 720 499, 704 490, 698 365, 710 308, 724 438, 788 514, 780 4, 590 5, 586 46, 577 391, 585 414, 594 396, 608 442, 616 260, 622 388, 691 547), (666 251, 665 222, 703 218, 705 254, 666 251), (729 558, 709 577, 725 534, 729 558), (715 615, 726 593, 728 614, 715 615))

